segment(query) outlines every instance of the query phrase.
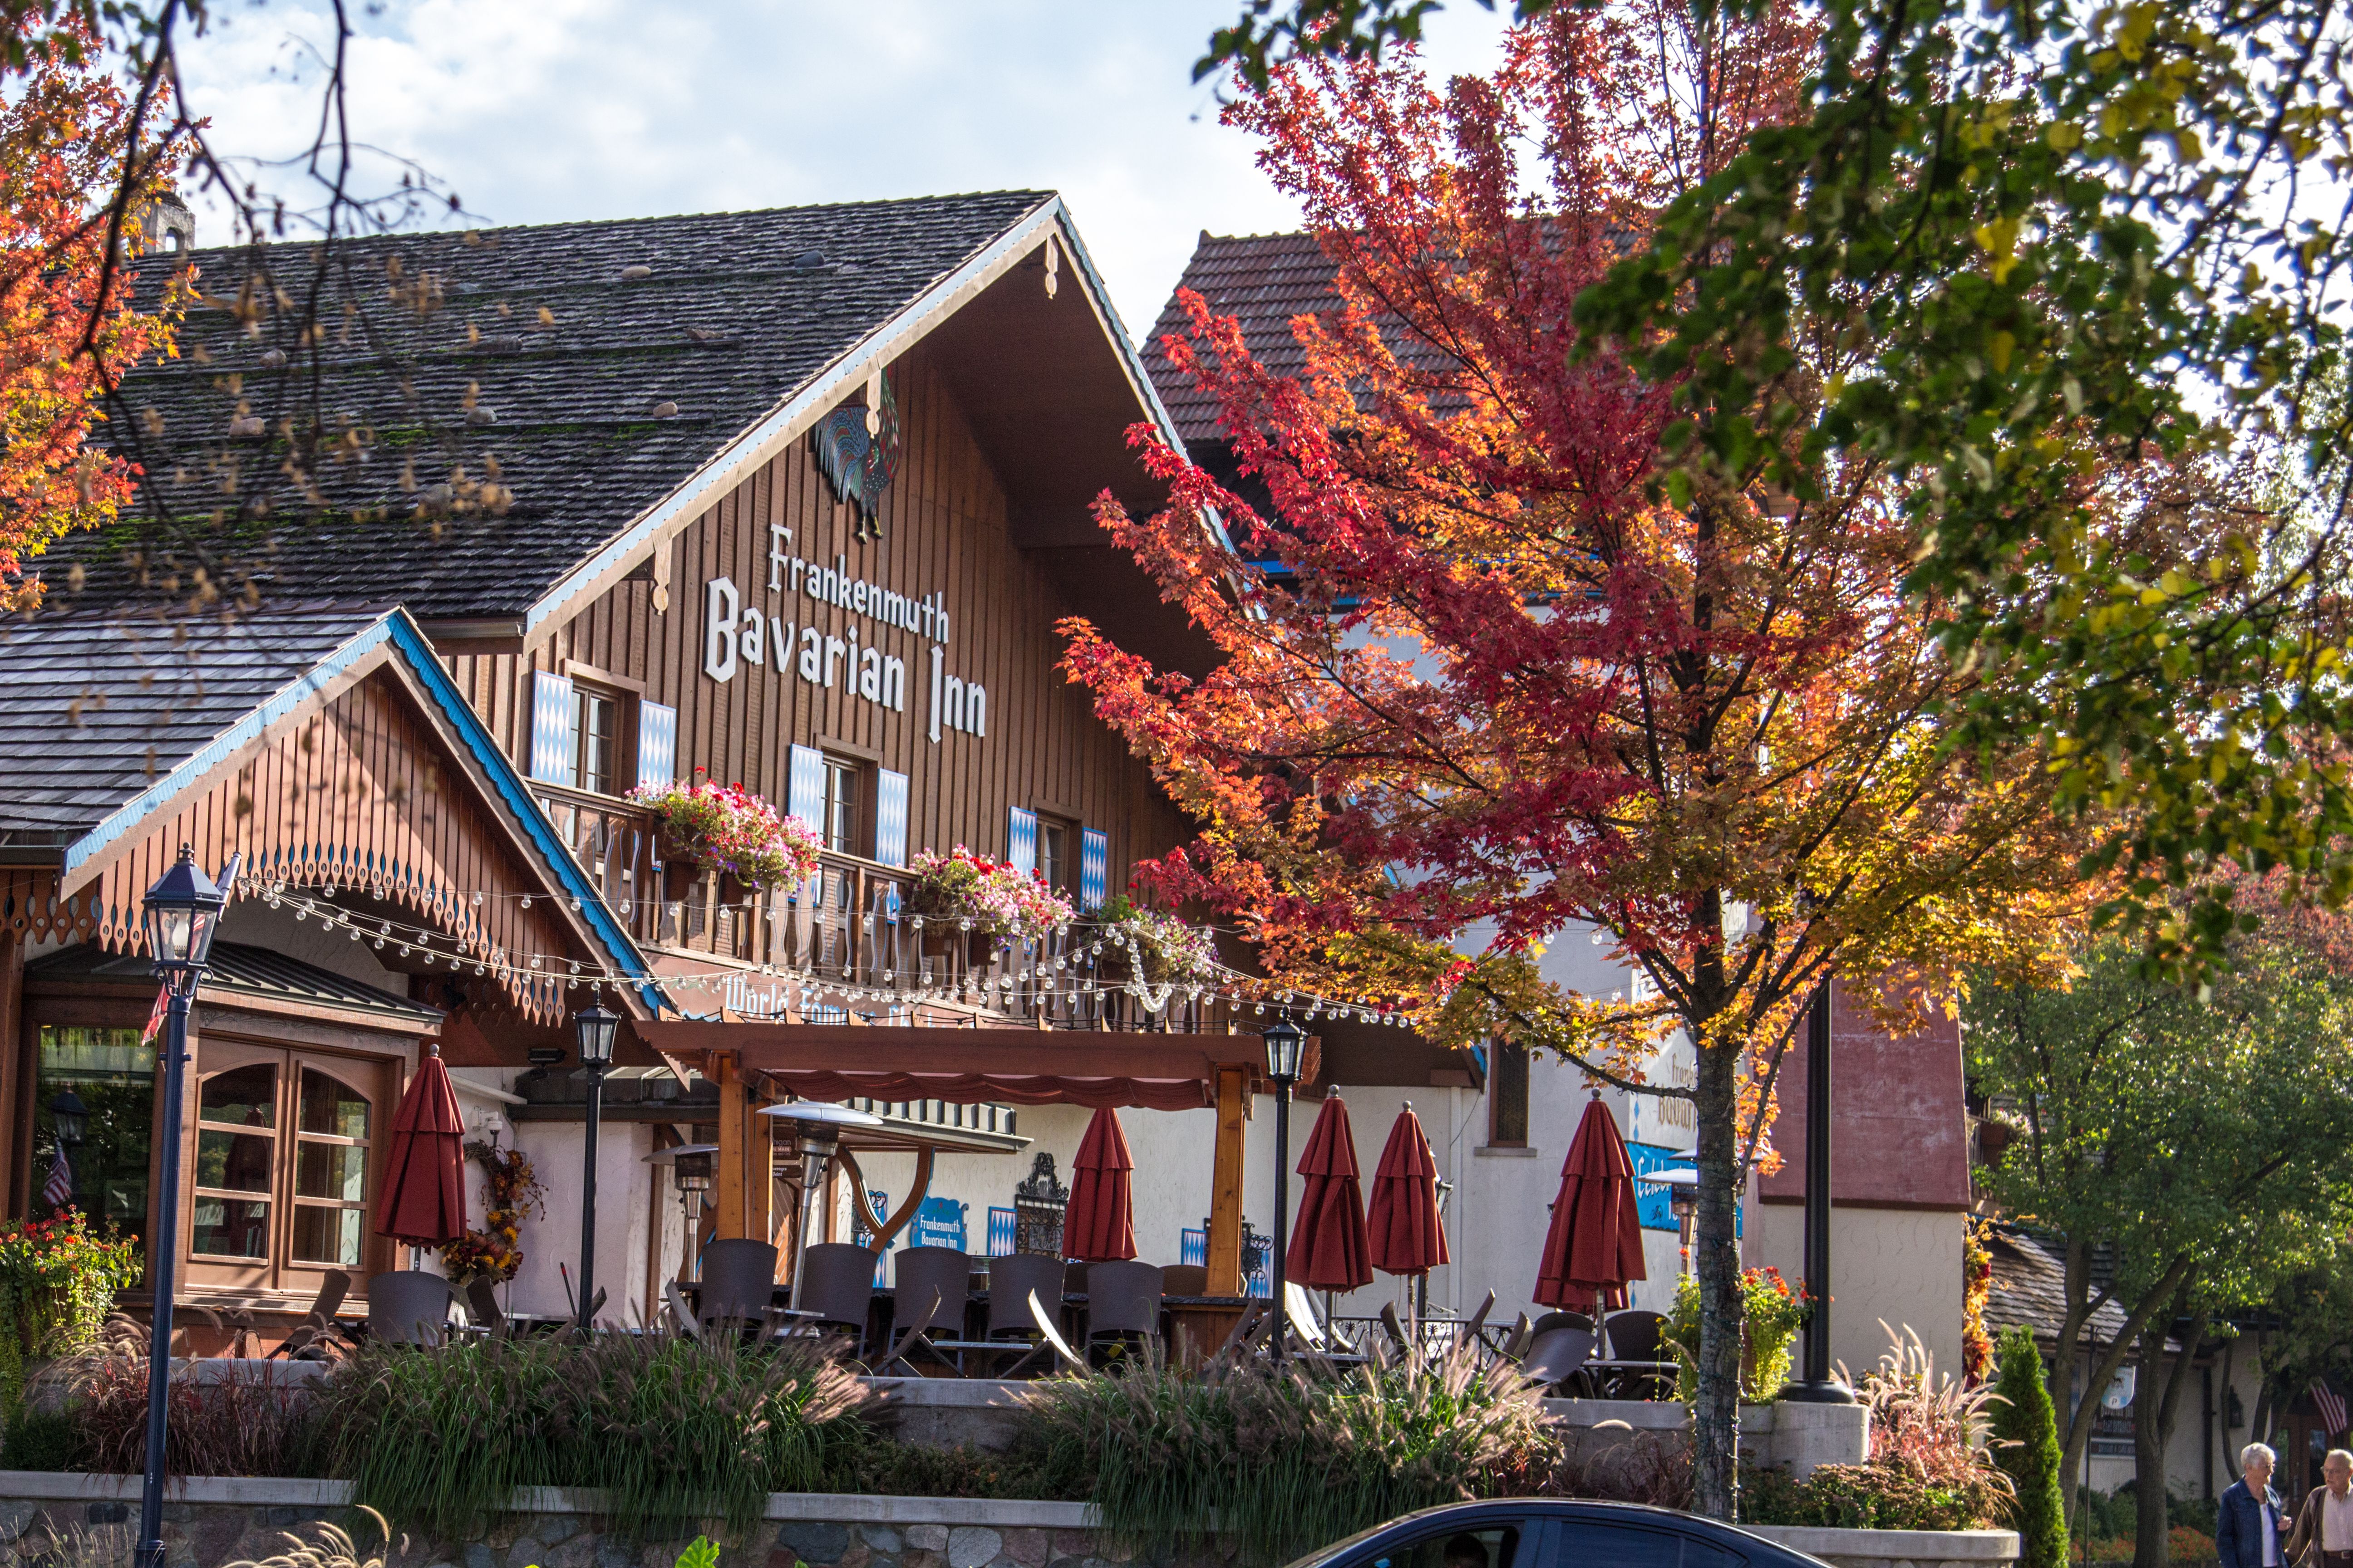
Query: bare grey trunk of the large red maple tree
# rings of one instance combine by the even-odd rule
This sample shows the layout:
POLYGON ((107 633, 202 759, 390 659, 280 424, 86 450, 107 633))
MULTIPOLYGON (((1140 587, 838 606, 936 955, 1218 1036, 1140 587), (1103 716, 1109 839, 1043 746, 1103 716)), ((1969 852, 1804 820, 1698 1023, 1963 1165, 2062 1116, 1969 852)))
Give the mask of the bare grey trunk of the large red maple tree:
POLYGON ((1711 1519, 1737 1519, 1741 1441, 1741 1253, 1734 1234, 1739 1201, 1739 1126, 1734 1086, 1739 1053, 1725 1044, 1699 1048, 1699 1392, 1692 1401, 1692 1507, 1711 1519))

